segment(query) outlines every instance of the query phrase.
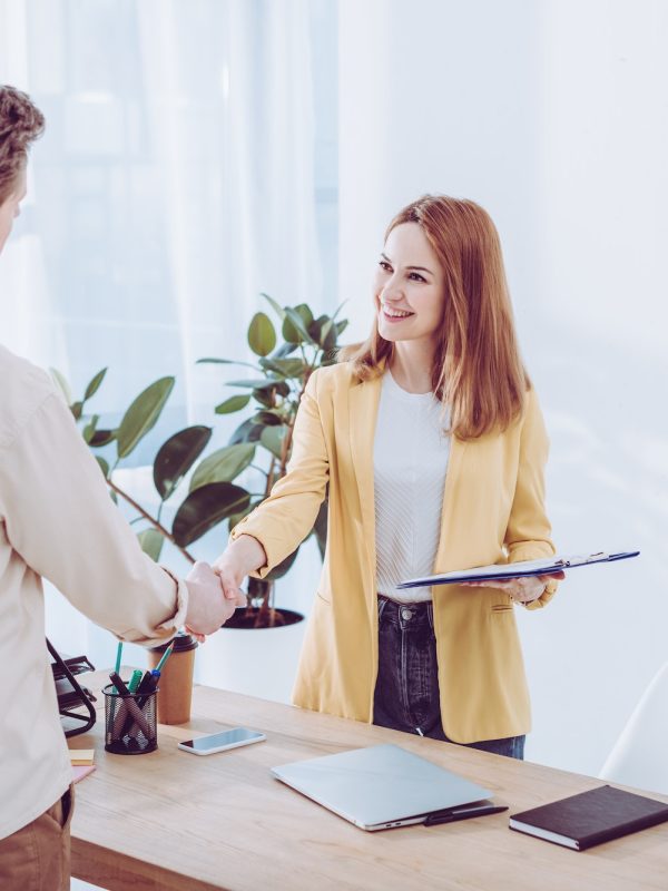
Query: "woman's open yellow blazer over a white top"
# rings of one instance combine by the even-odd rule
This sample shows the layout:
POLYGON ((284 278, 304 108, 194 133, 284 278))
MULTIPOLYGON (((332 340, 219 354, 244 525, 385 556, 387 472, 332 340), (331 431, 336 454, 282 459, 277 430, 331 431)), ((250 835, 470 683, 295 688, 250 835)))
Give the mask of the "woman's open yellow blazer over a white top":
MULTIPOLYGON (((373 441, 381 378, 348 363, 316 371, 302 398, 287 474, 234 529, 262 542, 264 577, 311 531, 330 483, 328 535, 293 693, 296 705, 373 721, 379 662, 373 441)), ((548 438, 533 390, 504 433, 453 437, 434 572, 550 556, 543 469, 548 438)), ((550 582, 543 606, 556 590, 550 582)), ((432 589, 445 734, 459 743, 530 730, 511 598, 500 589, 432 589)))

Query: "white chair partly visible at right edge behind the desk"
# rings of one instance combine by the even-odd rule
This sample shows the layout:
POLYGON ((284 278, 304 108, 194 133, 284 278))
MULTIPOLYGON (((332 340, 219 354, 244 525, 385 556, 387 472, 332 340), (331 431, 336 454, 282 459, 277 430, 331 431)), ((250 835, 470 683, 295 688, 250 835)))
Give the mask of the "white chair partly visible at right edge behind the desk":
POLYGON ((668 663, 642 694, 599 776, 668 795, 668 663))

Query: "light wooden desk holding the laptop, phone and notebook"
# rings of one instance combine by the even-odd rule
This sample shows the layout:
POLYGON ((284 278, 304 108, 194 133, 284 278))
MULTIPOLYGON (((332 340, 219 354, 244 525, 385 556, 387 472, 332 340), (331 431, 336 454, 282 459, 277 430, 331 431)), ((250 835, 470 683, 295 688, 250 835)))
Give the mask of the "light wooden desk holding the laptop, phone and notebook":
POLYGON ((159 726, 157 752, 107 754, 104 714, 69 744, 95 747, 98 767, 77 785, 72 874, 112 891, 668 889, 668 824, 582 853, 508 829, 509 813, 600 785, 592 777, 209 687, 195 688, 188 725, 159 726), (208 757, 176 747, 239 725, 267 741, 208 757), (370 833, 269 774, 277 764, 380 743, 493 790, 510 812, 370 833))

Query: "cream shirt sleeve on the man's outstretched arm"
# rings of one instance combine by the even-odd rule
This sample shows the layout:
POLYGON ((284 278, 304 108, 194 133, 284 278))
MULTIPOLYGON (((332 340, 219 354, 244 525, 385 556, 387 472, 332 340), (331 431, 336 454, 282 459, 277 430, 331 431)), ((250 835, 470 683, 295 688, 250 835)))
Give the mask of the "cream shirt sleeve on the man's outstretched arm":
POLYGON ((0 454, 0 512, 27 571, 97 625, 147 646, 183 625, 185 582, 143 552, 55 391, 0 454))

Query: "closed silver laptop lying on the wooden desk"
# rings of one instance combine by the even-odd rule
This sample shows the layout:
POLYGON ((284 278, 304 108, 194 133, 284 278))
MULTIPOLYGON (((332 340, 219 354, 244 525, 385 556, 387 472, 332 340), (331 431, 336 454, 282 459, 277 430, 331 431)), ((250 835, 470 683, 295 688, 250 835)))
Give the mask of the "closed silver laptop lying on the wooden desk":
POLYGON ((483 801, 492 795, 488 789, 397 745, 297 761, 272 774, 367 832, 507 810, 483 801))

